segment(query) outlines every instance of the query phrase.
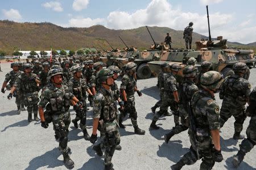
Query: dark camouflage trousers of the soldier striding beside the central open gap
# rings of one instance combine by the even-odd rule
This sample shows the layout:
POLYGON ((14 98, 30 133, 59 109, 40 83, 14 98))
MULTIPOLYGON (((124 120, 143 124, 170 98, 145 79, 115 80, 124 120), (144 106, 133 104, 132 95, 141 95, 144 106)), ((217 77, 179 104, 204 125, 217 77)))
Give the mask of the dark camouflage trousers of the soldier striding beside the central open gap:
POLYGON ((138 126, 137 124, 137 111, 135 109, 135 101, 134 95, 127 96, 127 101, 124 104, 123 111, 119 115, 119 121, 123 121, 123 118, 129 113, 129 117, 131 118, 131 124, 133 126, 138 126))

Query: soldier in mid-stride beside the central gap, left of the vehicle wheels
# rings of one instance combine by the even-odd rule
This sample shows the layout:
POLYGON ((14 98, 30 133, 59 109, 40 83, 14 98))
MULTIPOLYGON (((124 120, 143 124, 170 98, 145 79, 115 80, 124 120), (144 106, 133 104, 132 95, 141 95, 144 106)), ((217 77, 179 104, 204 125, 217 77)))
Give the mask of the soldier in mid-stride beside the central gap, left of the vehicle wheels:
POLYGON ((145 131, 139 129, 137 124, 137 112, 135 109, 135 101, 134 101, 134 92, 137 92, 139 96, 142 96, 142 93, 137 88, 137 83, 135 81, 137 65, 134 62, 129 62, 125 65, 126 74, 123 75, 122 83, 120 86, 121 91, 121 99, 125 102, 123 112, 121 112, 119 116, 119 127, 125 128, 125 125, 122 124, 123 118, 129 113, 129 117, 131 118, 131 123, 134 127, 134 133, 139 135, 144 135, 145 131))

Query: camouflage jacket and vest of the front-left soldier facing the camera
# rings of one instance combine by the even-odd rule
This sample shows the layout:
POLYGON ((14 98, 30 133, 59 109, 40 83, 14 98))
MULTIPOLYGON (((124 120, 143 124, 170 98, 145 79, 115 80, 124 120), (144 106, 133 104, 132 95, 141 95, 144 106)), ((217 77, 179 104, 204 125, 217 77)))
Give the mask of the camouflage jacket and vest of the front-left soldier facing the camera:
POLYGON ((51 104, 53 114, 61 114, 69 111, 70 100, 74 95, 69 91, 68 86, 62 84, 61 88, 49 83, 46 90, 42 92, 39 107, 46 107, 51 104))

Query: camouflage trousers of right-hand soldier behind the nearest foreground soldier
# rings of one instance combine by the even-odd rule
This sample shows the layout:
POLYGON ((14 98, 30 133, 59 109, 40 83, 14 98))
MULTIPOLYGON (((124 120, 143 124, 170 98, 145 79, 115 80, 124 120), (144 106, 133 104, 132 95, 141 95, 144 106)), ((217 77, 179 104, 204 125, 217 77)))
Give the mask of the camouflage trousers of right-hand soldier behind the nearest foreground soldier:
POLYGON ((228 121, 228 119, 234 116, 235 122, 234 122, 234 130, 236 132, 241 132, 243 129, 243 122, 246 118, 245 113, 245 106, 238 105, 237 103, 234 103, 234 100, 230 97, 224 97, 224 100, 222 101, 221 111, 220 111, 220 127, 224 126, 225 122, 228 121))

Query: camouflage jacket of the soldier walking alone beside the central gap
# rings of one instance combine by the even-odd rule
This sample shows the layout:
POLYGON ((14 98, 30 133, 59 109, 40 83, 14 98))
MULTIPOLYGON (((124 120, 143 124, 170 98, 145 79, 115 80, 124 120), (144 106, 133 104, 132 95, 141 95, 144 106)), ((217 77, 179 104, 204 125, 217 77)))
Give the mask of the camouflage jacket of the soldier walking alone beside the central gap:
POLYGON ((137 87, 137 82, 134 79, 134 76, 129 74, 123 75, 120 90, 125 90, 127 96, 133 96, 134 87, 137 87))

